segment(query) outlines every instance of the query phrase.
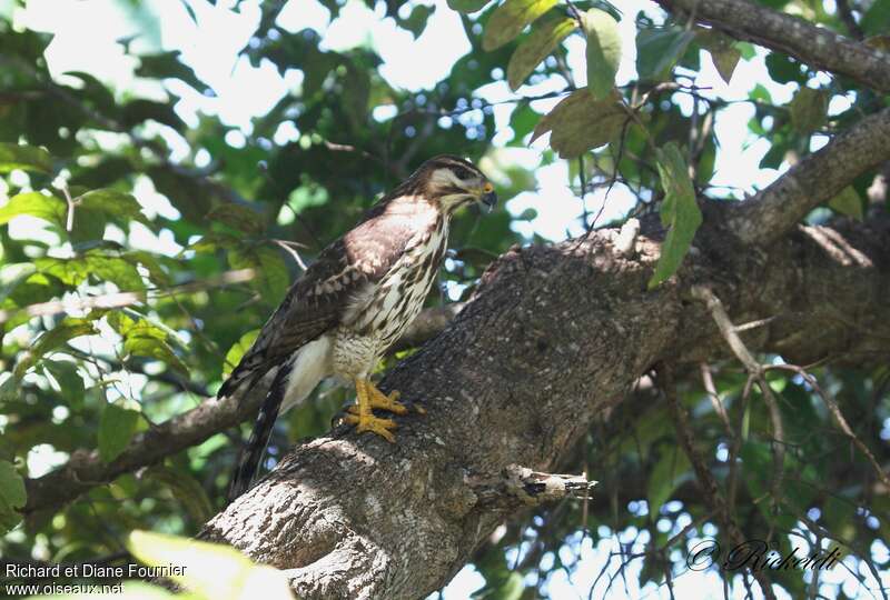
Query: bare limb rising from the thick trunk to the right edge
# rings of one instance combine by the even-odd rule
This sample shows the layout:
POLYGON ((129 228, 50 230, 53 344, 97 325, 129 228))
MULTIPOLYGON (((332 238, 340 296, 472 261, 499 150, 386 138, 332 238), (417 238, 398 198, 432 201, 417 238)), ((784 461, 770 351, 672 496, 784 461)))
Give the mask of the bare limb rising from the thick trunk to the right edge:
POLYGON ((859 174, 888 159, 890 108, 839 133, 771 186, 738 203, 730 216, 729 229, 744 243, 771 243, 859 174))

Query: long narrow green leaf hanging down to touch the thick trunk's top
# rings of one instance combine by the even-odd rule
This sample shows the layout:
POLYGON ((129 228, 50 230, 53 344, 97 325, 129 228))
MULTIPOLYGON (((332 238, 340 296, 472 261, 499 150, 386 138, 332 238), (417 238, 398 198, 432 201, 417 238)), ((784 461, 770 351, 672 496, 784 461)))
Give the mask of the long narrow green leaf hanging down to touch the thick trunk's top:
POLYGON ((649 280, 649 289, 674 274, 686 256, 699 226, 702 212, 695 202, 695 190, 689 177, 686 160, 676 143, 669 142, 657 152, 659 177, 664 189, 660 213, 664 227, 670 227, 661 248, 661 258, 649 280))

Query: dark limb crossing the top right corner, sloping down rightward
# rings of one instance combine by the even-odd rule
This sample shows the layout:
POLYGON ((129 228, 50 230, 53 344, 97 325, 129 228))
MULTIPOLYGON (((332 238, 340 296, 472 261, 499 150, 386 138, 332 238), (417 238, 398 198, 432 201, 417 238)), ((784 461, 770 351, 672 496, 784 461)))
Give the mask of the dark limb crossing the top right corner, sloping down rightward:
POLYGON ((890 92, 890 54, 746 0, 656 0, 733 38, 779 50, 864 88, 890 92))

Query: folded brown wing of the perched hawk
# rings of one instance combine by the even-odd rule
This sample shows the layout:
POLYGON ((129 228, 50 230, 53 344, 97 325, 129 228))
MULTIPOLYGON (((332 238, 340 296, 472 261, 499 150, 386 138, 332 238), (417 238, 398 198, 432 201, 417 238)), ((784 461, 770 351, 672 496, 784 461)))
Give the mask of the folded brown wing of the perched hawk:
POLYGON ((358 227, 325 248, 290 287, 218 396, 228 396, 246 379, 265 373, 335 329, 350 301, 362 298, 365 287, 379 281, 402 256, 414 234, 413 224, 378 206, 358 227))

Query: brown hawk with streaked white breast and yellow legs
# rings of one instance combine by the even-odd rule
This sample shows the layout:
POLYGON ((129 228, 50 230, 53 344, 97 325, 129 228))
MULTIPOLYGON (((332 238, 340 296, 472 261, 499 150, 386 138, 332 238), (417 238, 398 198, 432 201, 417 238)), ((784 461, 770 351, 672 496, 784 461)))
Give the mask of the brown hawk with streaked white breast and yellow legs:
POLYGON ((241 450, 230 499, 250 486, 279 412, 299 404, 327 377, 355 384, 357 404, 346 422, 395 441, 395 421, 372 409, 404 414, 406 408, 398 392, 384 394, 369 374, 421 311, 447 248, 452 214, 472 203, 491 210, 495 202, 494 187, 471 162, 433 158, 294 282, 219 389, 225 398, 278 369, 241 450))

